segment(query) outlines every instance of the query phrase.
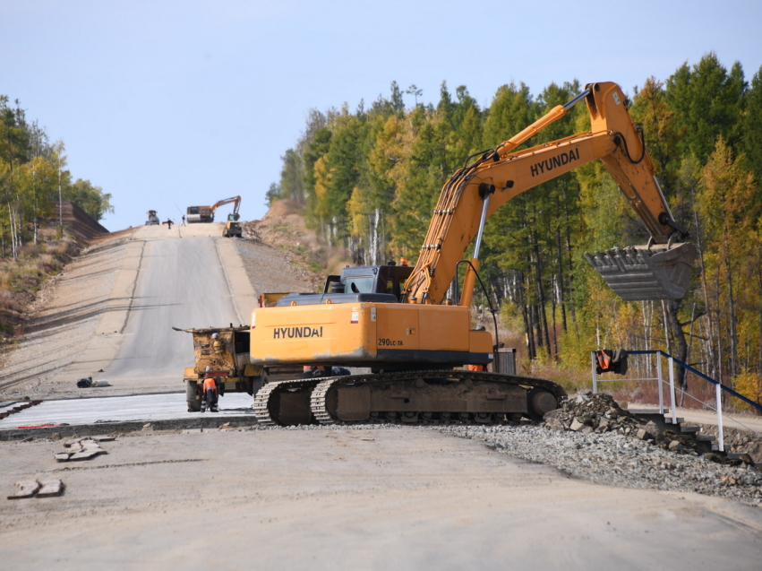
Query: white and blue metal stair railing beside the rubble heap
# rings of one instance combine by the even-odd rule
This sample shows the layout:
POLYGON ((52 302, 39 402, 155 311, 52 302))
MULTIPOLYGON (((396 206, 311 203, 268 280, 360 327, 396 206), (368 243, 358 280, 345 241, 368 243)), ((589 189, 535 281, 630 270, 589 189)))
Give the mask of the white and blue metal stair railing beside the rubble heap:
POLYGON ((751 405, 753 408, 758 409, 758 411, 762 411, 762 405, 759 405, 757 402, 749 400, 748 398, 743 396, 743 394, 736 393, 729 386, 723 385, 720 381, 713 379, 711 376, 706 376, 701 371, 698 371, 697 369, 692 368, 689 365, 686 365, 680 359, 675 359, 674 357, 672 357, 672 355, 665 353, 663 350, 629 350, 627 351, 627 353, 628 355, 656 355, 656 376, 646 377, 646 378, 598 378, 598 374, 595 372, 595 368, 598 364, 598 359, 595 358, 595 351, 590 351, 590 359, 592 362, 593 393, 594 394, 598 392, 599 382, 658 381, 659 414, 664 414, 664 385, 667 385, 667 383, 664 381, 664 376, 662 374, 662 359, 661 358, 665 357, 667 361, 669 362, 670 413, 672 416, 672 424, 677 424, 677 411, 676 411, 677 407, 676 407, 675 392, 680 391, 684 396, 688 396, 689 398, 697 402, 701 402, 701 404, 703 404, 704 406, 716 411, 717 413, 717 444, 721 452, 724 452, 724 449, 725 449, 724 436, 723 436, 723 416, 733 420, 734 422, 737 422, 742 427, 757 433, 756 430, 754 430, 753 428, 747 427, 740 420, 733 419, 727 414, 723 414, 723 391, 727 394, 730 394, 731 396, 741 399, 741 401, 746 402, 747 404, 751 405), (715 406, 712 406, 711 404, 708 404, 706 402, 702 402, 699 399, 697 399, 695 396, 692 396, 691 394, 688 394, 687 392, 683 391, 681 388, 675 387, 675 384, 674 384, 675 363, 680 365, 686 371, 690 371, 694 375, 700 378, 703 378, 705 381, 715 385, 715 406))

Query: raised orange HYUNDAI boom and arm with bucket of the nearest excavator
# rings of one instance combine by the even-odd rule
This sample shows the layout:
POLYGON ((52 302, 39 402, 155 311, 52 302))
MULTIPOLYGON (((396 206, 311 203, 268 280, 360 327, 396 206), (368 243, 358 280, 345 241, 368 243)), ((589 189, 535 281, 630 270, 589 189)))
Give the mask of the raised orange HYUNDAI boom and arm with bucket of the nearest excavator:
POLYGON ((674 221, 664 200, 642 133, 629 116, 624 93, 616 83, 601 82, 588 84, 578 97, 553 108, 449 179, 407 281, 407 302, 440 304, 458 261, 476 238, 460 301, 469 305, 484 221, 511 198, 596 159, 604 162, 646 226, 651 241, 647 247, 586 255, 588 261, 621 298, 681 298, 688 287, 696 250, 682 242, 688 231, 674 221), (514 151, 581 99, 585 99, 591 117, 589 132, 514 151))

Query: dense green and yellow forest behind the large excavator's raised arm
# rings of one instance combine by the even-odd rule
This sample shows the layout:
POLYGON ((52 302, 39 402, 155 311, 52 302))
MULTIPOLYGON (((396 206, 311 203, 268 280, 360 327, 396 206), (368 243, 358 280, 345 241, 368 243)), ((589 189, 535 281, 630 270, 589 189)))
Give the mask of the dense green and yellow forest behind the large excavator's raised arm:
MULTIPOLYGON (((596 160, 518 195, 487 222, 480 273, 502 326, 520 333, 532 361, 589 370, 597 348, 665 350, 760 402, 762 69, 749 82, 739 63, 728 69, 710 52, 666 79, 622 88, 675 220, 698 248, 689 293, 624 302, 587 264, 585 252, 648 238, 596 160)), ((464 161, 583 89, 576 79, 539 94, 509 83, 480 108, 466 86, 452 93, 442 82, 434 104, 393 82, 367 108, 313 109, 268 203, 304 199, 309 224, 355 264, 401 255, 415 263, 441 187, 464 161)), ((589 128, 583 103, 521 148, 589 128)))

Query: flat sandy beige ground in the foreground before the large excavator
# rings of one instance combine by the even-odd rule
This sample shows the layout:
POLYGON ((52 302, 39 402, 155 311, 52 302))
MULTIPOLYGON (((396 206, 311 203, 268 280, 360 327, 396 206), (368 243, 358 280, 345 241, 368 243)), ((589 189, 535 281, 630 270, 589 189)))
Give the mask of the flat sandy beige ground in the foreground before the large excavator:
POLYGON ((9 569, 758 569, 762 512, 622 490, 428 428, 212 430, 104 443, 3 443, 9 569))

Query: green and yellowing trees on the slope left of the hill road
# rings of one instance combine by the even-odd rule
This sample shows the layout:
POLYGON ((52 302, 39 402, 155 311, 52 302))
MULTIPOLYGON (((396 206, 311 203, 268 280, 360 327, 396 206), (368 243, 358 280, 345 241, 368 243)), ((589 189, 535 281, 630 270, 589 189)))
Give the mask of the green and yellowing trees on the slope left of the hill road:
POLYGON ((18 99, 0 95, 0 255, 16 258, 27 242, 37 244, 39 225, 57 218, 56 203, 71 201, 99 221, 114 212, 111 195, 89 180, 72 179, 64 143, 50 143, 29 121, 18 99))

